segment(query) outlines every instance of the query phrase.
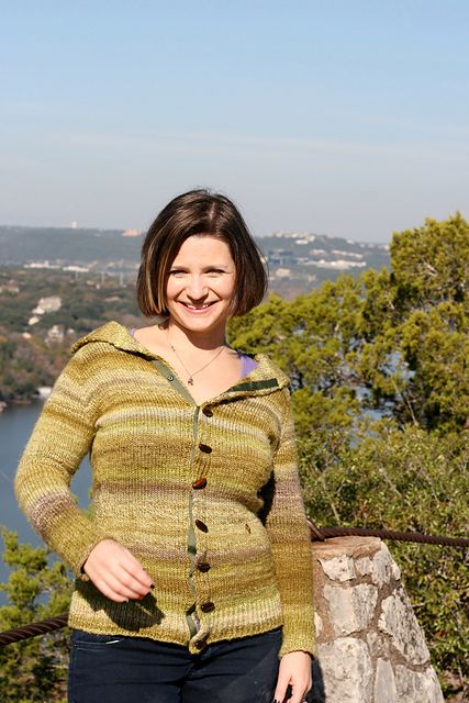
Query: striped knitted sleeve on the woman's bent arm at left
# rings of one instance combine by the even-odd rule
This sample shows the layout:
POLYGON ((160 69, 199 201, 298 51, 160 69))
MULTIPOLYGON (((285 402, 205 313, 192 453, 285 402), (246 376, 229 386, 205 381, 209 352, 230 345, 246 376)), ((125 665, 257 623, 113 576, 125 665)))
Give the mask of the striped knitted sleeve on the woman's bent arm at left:
POLYGON ((88 357, 86 348, 80 349, 58 377, 26 444, 14 483, 20 507, 34 529, 79 577, 91 549, 109 536, 78 507, 70 492, 71 478, 96 432, 92 362, 88 357))

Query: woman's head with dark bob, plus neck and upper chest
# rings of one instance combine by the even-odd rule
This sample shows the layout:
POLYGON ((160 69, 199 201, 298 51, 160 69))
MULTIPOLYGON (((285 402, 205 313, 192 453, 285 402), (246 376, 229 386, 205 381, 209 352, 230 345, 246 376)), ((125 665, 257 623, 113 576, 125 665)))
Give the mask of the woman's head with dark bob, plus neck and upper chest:
POLYGON ((138 304, 164 322, 135 337, 171 364, 200 404, 238 380, 243 357, 226 344, 226 323, 257 305, 266 289, 260 253, 238 210, 224 196, 189 191, 148 230, 138 304))

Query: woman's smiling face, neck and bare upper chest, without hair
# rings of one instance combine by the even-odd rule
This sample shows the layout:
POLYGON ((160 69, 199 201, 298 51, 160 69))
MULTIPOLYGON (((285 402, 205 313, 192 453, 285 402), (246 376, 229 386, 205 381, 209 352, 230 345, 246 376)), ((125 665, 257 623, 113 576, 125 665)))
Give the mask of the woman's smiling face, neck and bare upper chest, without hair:
POLYGON ((226 242, 210 234, 191 235, 169 269, 165 321, 135 332, 192 387, 198 404, 239 378, 239 356, 225 339, 235 289, 235 264, 226 242))

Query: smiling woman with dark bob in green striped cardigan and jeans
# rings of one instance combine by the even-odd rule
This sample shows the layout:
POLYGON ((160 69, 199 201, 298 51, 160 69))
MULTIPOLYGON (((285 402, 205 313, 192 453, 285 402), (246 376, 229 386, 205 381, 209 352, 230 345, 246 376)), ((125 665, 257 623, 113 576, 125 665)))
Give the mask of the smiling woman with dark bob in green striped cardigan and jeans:
POLYGON ((34 428, 15 486, 77 577, 70 703, 299 703, 311 689, 288 379, 226 343, 230 316, 266 284, 227 198, 174 199, 137 280, 159 322, 110 322, 78 341, 34 428), (69 492, 88 451, 91 516, 69 492))

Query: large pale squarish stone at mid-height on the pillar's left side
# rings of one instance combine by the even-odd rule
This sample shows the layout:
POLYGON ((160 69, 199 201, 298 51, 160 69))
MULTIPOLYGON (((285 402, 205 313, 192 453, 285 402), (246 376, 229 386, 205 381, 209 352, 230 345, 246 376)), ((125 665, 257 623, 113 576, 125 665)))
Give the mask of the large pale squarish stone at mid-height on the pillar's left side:
POLYGON ((378 601, 378 589, 367 583, 351 588, 325 585, 324 598, 330 603, 335 634, 349 635, 368 627, 378 601))

